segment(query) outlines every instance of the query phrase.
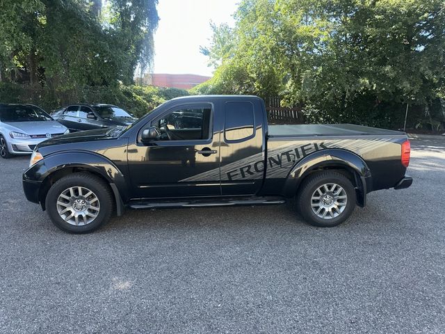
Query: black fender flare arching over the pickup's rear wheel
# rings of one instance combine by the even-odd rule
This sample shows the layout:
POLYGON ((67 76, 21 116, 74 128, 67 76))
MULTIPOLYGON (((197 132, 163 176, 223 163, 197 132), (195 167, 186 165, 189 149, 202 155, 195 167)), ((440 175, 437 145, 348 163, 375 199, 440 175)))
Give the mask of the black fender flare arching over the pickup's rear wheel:
POLYGON ((366 162, 357 154, 348 150, 327 149, 309 154, 307 157, 298 161, 289 172, 284 183, 284 197, 295 195, 301 181, 313 170, 318 168, 343 168, 354 172, 357 191, 359 192, 359 205, 366 202, 366 193, 371 189, 371 170, 366 162))

